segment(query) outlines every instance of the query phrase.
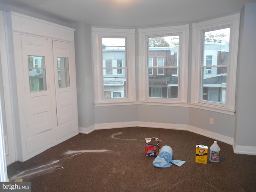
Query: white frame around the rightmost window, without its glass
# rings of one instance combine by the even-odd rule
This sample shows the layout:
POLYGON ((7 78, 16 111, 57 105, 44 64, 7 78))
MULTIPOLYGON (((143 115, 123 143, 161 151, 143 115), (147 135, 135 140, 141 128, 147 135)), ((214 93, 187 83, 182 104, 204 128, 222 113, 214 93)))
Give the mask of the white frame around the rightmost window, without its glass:
POLYGON ((236 68, 238 55, 240 13, 192 24, 191 107, 234 115, 236 68), (210 102, 201 98, 202 36, 204 31, 230 27, 229 64, 226 81, 226 103, 210 102))

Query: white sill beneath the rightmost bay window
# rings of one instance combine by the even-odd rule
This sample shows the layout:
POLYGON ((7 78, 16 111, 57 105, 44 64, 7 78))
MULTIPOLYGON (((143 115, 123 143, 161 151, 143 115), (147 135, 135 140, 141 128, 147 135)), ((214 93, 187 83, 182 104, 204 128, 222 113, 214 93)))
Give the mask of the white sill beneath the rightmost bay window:
POLYGON ((236 112, 235 110, 231 110, 231 109, 228 109, 225 107, 212 106, 212 105, 207 105, 207 104, 198 104, 198 103, 190 103, 190 107, 202 109, 202 110, 213 111, 213 112, 218 112, 218 113, 223 113, 223 114, 228 114, 228 115, 234 115, 236 112))

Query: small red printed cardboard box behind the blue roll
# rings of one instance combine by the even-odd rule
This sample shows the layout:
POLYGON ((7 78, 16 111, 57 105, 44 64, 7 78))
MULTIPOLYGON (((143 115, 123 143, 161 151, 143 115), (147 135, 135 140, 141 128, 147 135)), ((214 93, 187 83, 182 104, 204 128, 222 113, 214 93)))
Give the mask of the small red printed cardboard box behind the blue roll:
POLYGON ((159 151, 158 138, 146 138, 145 139, 146 157, 156 157, 159 151))

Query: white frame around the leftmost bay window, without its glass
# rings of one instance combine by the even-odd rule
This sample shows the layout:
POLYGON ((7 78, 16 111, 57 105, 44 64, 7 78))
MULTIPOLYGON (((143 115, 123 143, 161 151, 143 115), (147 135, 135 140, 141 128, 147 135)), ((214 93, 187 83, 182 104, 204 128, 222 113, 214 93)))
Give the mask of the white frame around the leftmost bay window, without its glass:
POLYGON ((115 105, 118 103, 129 104, 136 100, 135 93, 135 30, 110 29, 92 27, 92 53, 94 69, 94 96, 95 105, 115 105), (126 38, 126 98, 104 98, 102 78, 102 37, 126 38))

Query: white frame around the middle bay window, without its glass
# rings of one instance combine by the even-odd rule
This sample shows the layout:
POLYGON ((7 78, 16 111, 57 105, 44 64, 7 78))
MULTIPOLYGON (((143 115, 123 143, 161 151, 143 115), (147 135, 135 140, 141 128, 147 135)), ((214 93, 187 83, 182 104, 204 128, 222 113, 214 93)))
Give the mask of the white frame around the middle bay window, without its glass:
POLYGON ((148 104, 187 106, 188 97, 188 38, 189 24, 158 28, 138 29, 139 33, 139 101, 148 104), (178 98, 152 98, 148 97, 148 38, 152 36, 176 36, 179 42, 179 88, 178 98))

